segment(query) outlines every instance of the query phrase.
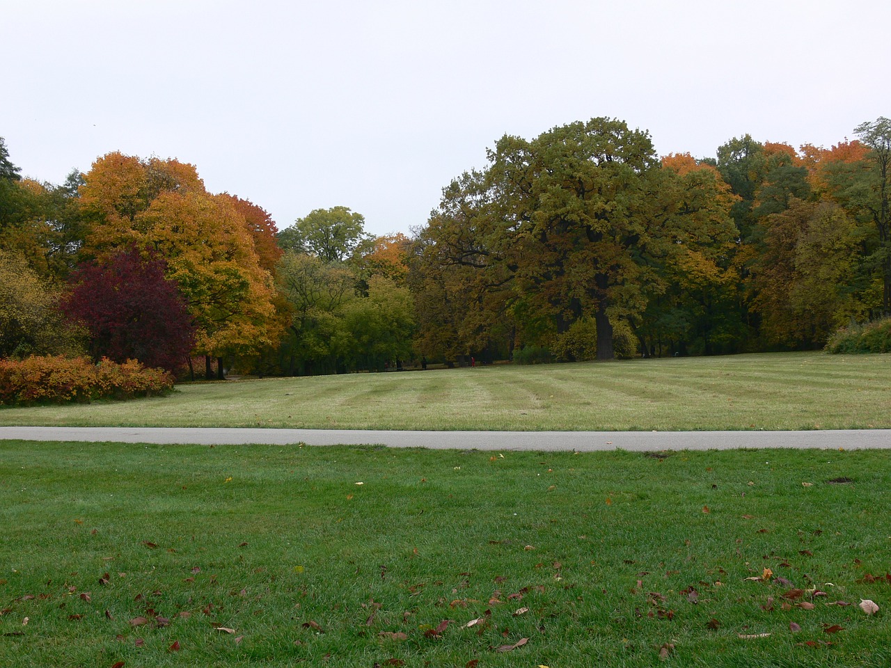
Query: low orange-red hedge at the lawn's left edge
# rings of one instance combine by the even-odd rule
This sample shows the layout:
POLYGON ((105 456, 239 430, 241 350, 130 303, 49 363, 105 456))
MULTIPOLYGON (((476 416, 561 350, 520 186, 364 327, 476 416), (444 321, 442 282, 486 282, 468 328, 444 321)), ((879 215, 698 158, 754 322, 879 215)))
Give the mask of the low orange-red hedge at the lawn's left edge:
POLYGON ((0 360, 0 404, 90 402, 106 397, 130 399, 164 395, 173 376, 142 363, 107 359, 94 364, 84 357, 37 357, 0 360))

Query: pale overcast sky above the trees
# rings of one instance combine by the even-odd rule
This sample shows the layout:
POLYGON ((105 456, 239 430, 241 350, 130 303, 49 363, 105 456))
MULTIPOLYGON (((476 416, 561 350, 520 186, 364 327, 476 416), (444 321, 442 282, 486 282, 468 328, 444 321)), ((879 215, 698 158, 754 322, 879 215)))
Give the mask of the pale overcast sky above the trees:
POLYGON ((110 151, 195 165, 279 228, 427 222, 504 134, 609 117, 659 155, 830 147, 891 117, 887 0, 0 0, 0 136, 62 183, 110 151))

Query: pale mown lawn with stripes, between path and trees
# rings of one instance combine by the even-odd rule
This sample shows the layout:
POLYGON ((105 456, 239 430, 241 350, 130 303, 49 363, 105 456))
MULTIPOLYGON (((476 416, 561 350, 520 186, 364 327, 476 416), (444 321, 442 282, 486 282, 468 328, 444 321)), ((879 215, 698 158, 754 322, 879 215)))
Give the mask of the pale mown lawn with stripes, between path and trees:
POLYGON ((493 366, 197 383, 128 403, 0 409, 2 425, 432 430, 891 428, 891 355, 493 366))

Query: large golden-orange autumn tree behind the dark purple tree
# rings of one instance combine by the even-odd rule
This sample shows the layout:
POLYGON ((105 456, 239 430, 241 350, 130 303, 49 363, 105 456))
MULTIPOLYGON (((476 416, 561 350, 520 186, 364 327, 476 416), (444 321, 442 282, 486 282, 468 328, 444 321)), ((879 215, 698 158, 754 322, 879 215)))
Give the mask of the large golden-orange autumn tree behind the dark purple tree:
MULTIPOLYGON (((275 330, 272 276, 231 196, 204 189, 192 165, 120 153, 98 159, 80 189, 86 252, 151 248, 167 262, 197 325, 196 352, 253 354, 275 330)), ((218 365, 222 375, 222 366, 218 365)))

